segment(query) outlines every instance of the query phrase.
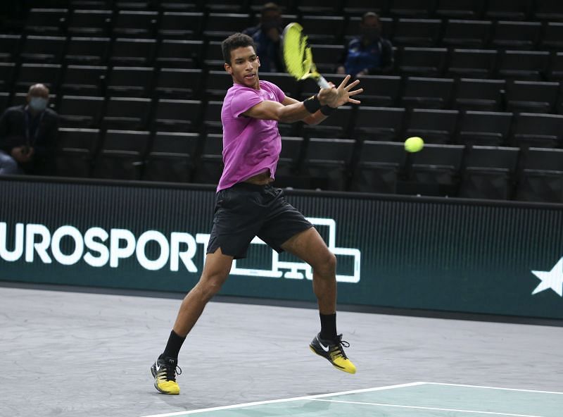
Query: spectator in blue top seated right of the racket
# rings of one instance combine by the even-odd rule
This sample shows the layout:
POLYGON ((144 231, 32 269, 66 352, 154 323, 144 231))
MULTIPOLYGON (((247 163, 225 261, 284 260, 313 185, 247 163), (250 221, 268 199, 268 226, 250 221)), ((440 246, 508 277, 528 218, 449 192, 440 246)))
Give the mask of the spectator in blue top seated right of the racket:
POLYGON ((360 21, 359 37, 348 45, 339 61, 336 73, 350 74, 358 78, 362 75, 385 73, 393 68, 393 45, 381 37, 379 15, 367 12, 360 21))

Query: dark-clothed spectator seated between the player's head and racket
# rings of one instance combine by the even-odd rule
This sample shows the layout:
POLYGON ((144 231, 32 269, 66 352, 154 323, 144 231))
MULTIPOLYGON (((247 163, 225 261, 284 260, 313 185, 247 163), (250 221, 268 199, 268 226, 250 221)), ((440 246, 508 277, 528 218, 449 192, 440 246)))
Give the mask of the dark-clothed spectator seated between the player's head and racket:
POLYGON ((260 25, 243 30, 256 44, 256 54, 260 59, 260 73, 276 73, 284 71, 281 61, 279 41, 284 31, 281 20, 281 9, 275 3, 267 3, 260 13, 260 25))

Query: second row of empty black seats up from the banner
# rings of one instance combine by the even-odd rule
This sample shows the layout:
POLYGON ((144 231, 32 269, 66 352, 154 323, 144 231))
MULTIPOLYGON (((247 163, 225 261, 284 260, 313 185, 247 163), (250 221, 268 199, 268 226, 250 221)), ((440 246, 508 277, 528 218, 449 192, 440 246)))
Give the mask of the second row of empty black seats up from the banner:
MULTIPOLYGON (((519 87, 514 88, 518 90, 519 87)), ((24 92, 16 94, 16 98, 12 104, 25 103, 24 92)), ((8 99, 6 94, 0 94, 0 101, 8 99)), ((480 99, 475 101, 478 104, 481 102, 480 99)), ((106 99, 63 94, 54 102, 63 127, 222 132, 220 100, 146 97, 106 99)), ((543 104, 542 101, 523 103, 515 99, 514 110, 533 106, 542 108, 543 104)), ((360 141, 402 142, 405 137, 421 136, 431 144, 551 148, 563 145, 562 115, 519 111, 345 106, 320 125, 280 123, 279 130, 282 135, 288 136, 351 137, 360 141)))

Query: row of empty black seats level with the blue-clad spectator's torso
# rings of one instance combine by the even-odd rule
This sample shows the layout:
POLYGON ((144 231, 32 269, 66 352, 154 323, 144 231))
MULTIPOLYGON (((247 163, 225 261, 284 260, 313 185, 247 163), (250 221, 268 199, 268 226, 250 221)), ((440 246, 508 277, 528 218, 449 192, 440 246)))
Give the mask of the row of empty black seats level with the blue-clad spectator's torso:
MULTIPOLYGON (((0 35, 0 46, 17 35, 0 35)), ((100 37, 41 37, 29 35, 21 51, 0 47, 0 62, 51 65, 156 66, 161 68, 220 69, 224 61, 221 42, 178 39, 100 37)), ((395 48, 392 73, 431 77, 479 77, 516 80, 560 80, 563 52, 425 48, 395 48)), ((333 73, 344 46, 313 44, 312 52, 322 73, 333 73)))

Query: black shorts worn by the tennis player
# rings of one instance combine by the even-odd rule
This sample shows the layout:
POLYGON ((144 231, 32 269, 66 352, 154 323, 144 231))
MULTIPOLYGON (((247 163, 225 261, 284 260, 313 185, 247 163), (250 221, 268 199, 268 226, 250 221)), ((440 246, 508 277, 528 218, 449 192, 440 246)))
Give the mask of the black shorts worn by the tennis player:
POLYGON ((244 258, 255 236, 281 252, 281 244, 311 227, 303 214, 284 199, 281 189, 239 182, 217 192, 207 253, 221 248, 223 254, 234 259, 244 258))

